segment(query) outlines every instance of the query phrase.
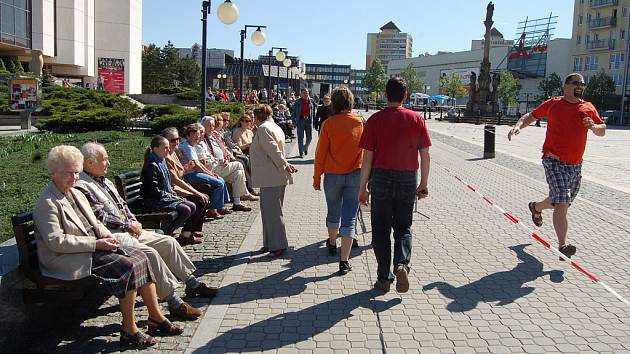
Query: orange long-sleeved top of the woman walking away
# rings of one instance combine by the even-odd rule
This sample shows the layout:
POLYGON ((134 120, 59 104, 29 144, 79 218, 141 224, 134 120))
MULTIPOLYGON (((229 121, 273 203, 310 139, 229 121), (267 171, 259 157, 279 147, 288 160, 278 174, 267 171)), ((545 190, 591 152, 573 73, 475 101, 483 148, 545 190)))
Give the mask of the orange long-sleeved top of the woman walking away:
POLYGON ((322 173, 343 174, 361 168, 362 134, 363 121, 354 113, 342 112, 324 121, 315 151, 313 185, 321 183, 322 173))

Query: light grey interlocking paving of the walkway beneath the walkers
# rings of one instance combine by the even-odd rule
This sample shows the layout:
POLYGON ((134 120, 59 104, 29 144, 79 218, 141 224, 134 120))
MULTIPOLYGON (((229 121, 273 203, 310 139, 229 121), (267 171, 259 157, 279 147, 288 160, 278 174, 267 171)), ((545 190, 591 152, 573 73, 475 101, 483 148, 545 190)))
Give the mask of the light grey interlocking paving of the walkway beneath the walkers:
MULTIPOLYGON (((284 206, 293 249, 280 259, 251 257, 235 295, 217 304, 227 307, 214 323, 218 330, 198 330, 192 342, 202 344, 187 351, 630 352, 628 307, 559 262, 453 175, 532 228, 527 202, 544 195, 546 185, 476 161, 440 139, 431 154, 430 197, 414 214, 408 293, 372 289, 369 209, 363 211, 367 225, 365 232, 359 228, 353 270, 335 275, 338 258, 327 255, 323 242, 324 196, 311 187, 312 165, 298 160, 300 172, 284 206)), ((606 210, 586 202, 571 208, 574 259, 630 296, 620 251, 630 246, 630 224, 606 210)), ((550 214, 544 216, 537 232, 555 244, 550 214)), ((259 239, 252 249, 260 246, 259 239)))

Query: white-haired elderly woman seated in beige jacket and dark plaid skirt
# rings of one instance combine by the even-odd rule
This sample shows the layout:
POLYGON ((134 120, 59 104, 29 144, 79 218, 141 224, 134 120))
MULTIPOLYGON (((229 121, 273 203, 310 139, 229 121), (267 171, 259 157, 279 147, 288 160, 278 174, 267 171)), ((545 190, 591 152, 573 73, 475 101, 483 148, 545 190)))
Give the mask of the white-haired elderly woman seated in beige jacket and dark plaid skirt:
POLYGON ((62 280, 98 278, 119 299, 122 313, 120 341, 139 348, 156 344, 136 326, 136 293, 149 310, 149 333, 181 334, 160 311, 155 279, 146 255, 120 246, 96 220, 85 196, 72 187, 83 169, 83 155, 73 146, 60 145, 48 154, 52 182, 41 193, 33 212, 35 240, 43 275, 62 280))

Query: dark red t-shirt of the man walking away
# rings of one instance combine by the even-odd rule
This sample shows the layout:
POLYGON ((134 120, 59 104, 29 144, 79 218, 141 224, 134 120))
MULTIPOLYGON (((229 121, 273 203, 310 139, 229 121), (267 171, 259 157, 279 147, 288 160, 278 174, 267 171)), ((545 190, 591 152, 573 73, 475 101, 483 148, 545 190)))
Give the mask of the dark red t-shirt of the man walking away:
POLYGON ((424 118, 403 107, 374 113, 363 128, 359 147, 373 151, 373 168, 418 170, 418 151, 431 146, 424 118))

